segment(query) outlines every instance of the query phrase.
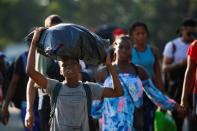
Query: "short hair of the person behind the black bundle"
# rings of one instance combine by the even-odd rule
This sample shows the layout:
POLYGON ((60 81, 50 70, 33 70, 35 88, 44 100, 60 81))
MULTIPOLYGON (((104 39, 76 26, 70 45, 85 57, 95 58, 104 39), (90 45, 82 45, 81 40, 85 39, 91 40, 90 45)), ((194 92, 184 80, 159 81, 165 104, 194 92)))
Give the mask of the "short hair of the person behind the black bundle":
POLYGON ((45 23, 48 23, 49 25, 56 25, 62 23, 62 19, 59 15, 50 15, 45 19, 45 23))

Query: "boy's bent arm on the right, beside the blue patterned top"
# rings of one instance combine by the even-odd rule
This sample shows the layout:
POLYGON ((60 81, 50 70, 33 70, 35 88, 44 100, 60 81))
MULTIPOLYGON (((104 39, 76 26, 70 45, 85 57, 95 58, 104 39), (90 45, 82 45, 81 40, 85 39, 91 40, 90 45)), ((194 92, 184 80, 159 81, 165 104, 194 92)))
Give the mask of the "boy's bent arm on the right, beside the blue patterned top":
POLYGON ((114 67, 111 64, 110 55, 108 55, 106 58, 106 65, 107 65, 107 68, 112 76, 113 89, 112 88, 104 88, 102 98, 122 96, 124 94, 124 92, 123 92, 122 86, 120 84, 120 80, 118 78, 118 75, 117 75, 114 67))

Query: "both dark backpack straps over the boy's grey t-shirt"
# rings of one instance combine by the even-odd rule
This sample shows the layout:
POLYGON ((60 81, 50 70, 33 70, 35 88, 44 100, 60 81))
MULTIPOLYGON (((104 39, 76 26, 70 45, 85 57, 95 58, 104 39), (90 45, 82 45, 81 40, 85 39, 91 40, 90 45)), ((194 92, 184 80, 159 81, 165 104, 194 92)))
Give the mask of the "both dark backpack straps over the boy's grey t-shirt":
MULTIPOLYGON (((57 104, 57 97, 59 95, 59 91, 61 89, 62 85, 61 83, 57 83, 55 88, 53 89, 53 95, 51 96, 51 112, 50 112, 50 119, 49 119, 49 124, 51 125, 54 113, 55 113, 55 108, 57 104)), ((95 131, 96 127, 94 126, 94 121, 93 118, 91 117, 91 106, 92 106, 92 93, 91 89, 88 84, 83 84, 83 88, 86 92, 86 97, 87 97, 87 109, 88 109, 88 120, 89 120, 89 128, 90 131, 95 131)))

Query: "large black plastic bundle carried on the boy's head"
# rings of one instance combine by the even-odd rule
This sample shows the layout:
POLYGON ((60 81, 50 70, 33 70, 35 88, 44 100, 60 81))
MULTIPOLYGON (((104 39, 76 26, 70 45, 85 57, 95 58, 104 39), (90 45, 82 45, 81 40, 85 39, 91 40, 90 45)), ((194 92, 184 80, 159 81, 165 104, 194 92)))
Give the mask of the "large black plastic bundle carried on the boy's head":
MULTIPOLYGON (((32 33, 26 37, 29 42, 32 33)), ((50 27, 40 37, 38 51, 53 59, 62 57, 83 59, 88 64, 97 65, 105 61, 109 41, 76 24, 58 24, 50 27)))

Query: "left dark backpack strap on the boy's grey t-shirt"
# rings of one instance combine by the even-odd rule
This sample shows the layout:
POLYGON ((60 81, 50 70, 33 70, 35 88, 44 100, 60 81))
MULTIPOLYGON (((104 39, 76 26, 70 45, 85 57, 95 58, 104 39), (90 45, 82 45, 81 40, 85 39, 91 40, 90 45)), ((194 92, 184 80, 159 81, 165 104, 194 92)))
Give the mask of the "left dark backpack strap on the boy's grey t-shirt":
POLYGON ((56 104, 57 104, 57 97, 59 95, 59 91, 60 91, 61 87, 62 87, 62 84, 57 83, 55 88, 53 89, 53 94, 51 96, 51 112, 50 112, 50 119, 49 119, 50 124, 52 122, 52 118, 55 113, 55 108, 56 108, 56 104))

